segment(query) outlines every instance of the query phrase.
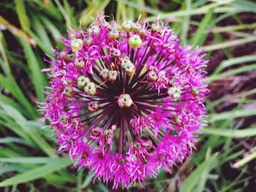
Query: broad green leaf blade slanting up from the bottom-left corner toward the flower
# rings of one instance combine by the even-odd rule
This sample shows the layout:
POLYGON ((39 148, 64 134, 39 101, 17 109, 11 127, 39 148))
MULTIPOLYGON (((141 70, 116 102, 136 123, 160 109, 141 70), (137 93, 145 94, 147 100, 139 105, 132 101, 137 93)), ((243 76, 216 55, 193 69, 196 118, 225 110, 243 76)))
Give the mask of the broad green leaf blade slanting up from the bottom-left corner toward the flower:
POLYGON ((70 164, 72 164, 70 158, 58 158, 44 166, 39 166, 36 169, 31 169, 27 172, 17 174, 14 177, 10 177, 9 179, 2 181, 0 187, 18 185, 20 183, 27 183, 31 180, 37 180, 44 177, 46 174, 64 169, 70 164))

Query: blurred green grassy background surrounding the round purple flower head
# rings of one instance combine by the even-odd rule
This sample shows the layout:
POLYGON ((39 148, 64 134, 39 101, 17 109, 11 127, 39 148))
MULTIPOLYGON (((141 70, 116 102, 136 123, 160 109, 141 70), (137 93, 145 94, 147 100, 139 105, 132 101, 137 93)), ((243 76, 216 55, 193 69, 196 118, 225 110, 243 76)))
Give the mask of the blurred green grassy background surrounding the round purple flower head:
POLYGON ((256 191, 256 3, 245 0, 1 0, 0 191, 115 191, 56 153, 37 111, 48 85, 45 54, 97 12, 118 22, 160 16, 209 60, 208 127, 197 150, 173 174, 129 191, 256 191))

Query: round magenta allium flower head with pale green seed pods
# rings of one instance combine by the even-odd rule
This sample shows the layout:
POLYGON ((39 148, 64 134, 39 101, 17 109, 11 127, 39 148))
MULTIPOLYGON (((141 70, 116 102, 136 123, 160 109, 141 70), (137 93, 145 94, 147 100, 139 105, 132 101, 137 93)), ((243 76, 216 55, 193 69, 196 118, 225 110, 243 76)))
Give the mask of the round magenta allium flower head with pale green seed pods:
POLYGON ((208 93, 200 50, 179 45, 159 20, 97 17, 61 42, 40 107, 81 169, 128 188, 192 153, 208 93))

